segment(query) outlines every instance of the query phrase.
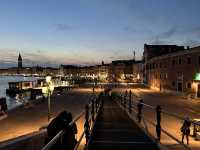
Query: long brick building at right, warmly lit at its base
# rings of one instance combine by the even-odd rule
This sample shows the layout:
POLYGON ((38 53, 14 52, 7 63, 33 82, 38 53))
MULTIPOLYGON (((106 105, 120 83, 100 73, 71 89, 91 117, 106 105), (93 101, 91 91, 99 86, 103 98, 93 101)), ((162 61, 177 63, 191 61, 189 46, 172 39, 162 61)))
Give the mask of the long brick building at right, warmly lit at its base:
POLYGON ((145 79, 150 87, 200 97, 200 46, 184 49, 176 45, 145 44, 144 57, 145 79))

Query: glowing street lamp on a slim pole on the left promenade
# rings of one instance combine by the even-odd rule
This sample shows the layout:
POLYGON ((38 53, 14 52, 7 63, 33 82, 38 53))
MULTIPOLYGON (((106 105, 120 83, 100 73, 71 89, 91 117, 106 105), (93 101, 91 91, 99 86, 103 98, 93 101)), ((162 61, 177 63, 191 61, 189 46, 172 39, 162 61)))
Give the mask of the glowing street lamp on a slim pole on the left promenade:
POLYGON ((46 76, 46 87, 42 87, 42 93, 48 97, 48 121, 51 119, 51 95, 53 94, 54 85, 51 81, 51 76, 46 76))

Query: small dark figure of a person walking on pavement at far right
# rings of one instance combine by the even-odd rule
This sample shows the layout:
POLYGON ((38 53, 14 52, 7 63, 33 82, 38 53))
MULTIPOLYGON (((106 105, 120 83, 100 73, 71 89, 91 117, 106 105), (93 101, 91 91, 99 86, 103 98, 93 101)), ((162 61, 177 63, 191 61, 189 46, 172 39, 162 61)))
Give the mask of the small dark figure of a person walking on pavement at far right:
POLYGON ((184 143, 184 137, 186 136, 187 144, 189 144, 190 126, 191 126, 191 121, 189 117, 186 117, 181 127, 182 143, 184 143))

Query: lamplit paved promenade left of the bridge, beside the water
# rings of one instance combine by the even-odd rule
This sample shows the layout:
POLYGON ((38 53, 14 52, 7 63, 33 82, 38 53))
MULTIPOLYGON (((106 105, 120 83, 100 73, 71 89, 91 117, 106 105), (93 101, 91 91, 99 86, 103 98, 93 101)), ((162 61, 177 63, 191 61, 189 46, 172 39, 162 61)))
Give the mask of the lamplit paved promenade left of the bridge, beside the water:
MULTIPOLYGON (((92 89, 74 89, 62 95, 51 97, 52 117, 63 110, 72 112, 75 117, 88 103, 92 89)), ((37 103, 30 108, 19 107, 8 112, 8 117, 0 121, 0 144, 5 140, 16 138, 38 131, 40 127, 48 124, 47 100, 37 103)))

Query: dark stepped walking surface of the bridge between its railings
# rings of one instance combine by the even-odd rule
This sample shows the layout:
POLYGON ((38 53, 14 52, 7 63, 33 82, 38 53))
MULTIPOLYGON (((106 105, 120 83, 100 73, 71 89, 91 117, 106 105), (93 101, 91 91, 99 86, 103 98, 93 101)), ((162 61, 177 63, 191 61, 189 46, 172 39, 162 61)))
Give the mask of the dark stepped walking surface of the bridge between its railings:
POLYGON ((153 141, 110 99, 104 100, 89 150, 157 150, 153 141))

